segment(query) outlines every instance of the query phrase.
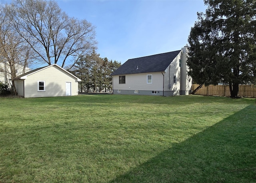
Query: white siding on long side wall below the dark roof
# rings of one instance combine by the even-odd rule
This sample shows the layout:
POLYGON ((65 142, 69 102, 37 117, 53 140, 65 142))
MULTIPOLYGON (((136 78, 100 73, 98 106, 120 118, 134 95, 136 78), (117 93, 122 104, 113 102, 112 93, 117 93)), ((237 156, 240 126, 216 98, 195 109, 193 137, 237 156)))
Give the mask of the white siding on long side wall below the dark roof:
POLYGON ((119 84, 119 76, 113 76, 114 90, 163 90, 163 75, 161 72, 122 76, 125 76, 125 84, 119 84), (148 74, 152 74, 152 84, 147 84, 148 74))

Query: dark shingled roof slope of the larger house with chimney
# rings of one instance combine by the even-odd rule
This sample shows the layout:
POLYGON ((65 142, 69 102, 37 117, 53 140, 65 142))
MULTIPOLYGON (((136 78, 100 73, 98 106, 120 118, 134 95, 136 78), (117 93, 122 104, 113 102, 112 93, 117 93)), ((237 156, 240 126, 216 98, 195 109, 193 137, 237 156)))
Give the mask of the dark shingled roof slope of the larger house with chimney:
POLYGON ((180 52, 181 50, 177 50, 174 52, 129 59, 117 70, 112 72, 111 76, 163 72, 180 52))

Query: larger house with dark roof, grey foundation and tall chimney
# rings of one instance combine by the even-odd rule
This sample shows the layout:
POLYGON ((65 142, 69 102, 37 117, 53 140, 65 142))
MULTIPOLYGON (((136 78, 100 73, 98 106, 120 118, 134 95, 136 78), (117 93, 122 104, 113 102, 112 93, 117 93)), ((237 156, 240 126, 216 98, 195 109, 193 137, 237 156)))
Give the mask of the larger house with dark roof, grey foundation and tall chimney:
POLYGON ((187 48, 127 60, 112 76, 113 94, 188 95, 192 78, 186 65, 187 48))

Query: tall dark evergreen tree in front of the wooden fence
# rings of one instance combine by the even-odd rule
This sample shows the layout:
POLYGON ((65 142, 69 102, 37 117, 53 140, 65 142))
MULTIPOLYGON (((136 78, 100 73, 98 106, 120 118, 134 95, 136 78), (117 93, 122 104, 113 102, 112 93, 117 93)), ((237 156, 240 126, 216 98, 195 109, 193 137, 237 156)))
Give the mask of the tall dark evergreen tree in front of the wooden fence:
POLYGON ((204 0, 188 37, 190 76, 198 84, 256 83, 256 0, 204 0))

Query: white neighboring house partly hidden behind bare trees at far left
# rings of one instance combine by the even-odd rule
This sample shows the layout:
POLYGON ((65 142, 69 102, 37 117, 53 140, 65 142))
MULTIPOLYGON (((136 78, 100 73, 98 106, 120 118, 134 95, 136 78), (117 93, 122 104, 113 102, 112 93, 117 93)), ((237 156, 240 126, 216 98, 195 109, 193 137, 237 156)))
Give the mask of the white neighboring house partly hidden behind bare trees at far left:
MULTIPOLYGON (((15 72, 16 76, 23 74, 24 72, 29 72, 30 68, 25 68, 22 65, 15 64, 15 72), (23 72, 24 71, 24 72, 23 72)), ((12 76, 11 76, 11 69, 10 65, 5 62, 0 62, 0 82, 8 84, 9 86, 12 85, 12 76)))

